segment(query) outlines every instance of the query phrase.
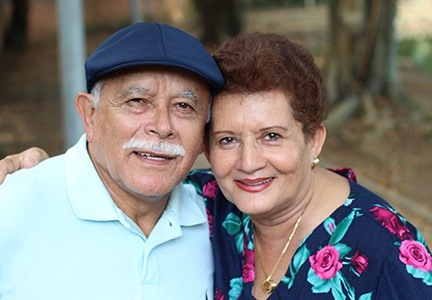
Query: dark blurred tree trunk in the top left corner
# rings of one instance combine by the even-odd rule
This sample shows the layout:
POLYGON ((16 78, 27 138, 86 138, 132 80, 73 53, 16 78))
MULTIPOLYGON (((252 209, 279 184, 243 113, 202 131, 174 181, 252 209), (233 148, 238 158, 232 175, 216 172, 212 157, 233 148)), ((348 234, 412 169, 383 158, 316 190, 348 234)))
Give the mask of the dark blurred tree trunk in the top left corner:
POLYGON ((28 44, 28 0, 11 0, 12 18, 3 36, 5 50, 20 50, 28 44))

